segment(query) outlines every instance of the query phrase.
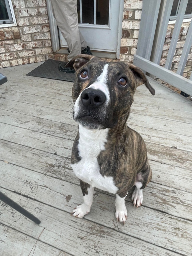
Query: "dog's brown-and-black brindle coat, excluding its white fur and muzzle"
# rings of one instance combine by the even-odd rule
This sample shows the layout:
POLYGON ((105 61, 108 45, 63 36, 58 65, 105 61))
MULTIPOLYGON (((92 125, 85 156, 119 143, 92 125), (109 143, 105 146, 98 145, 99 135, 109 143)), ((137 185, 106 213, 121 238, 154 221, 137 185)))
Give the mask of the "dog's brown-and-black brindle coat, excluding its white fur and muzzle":
MULTIPOLYGON (((143 185, 143 189, 152 178, 152 171, 147 159, 146 145, 142 137, 126 124, 130 113, 130 107, 133 103, 133 94, 136 87, 145 83, 145 86, 154 95, 155 91, 148 83, 141 69, 132 64, 124 62, 106 62, 89 55, 81 55, 72 59, 67 66, 71 66, 76 70, 76 81, 72 89, 72 97, 75 101, 81 91, 90 86, 94 82, 103 66, 109 63, 110 85, 112 113, 108 113, 108 118, 102 124, 102 129, 109 128, 105 150, 98 155, 98 163, 101 175, 112 176, 115 186, 119 188, 117 194, 125 197, 127 191, 130 190, 137 179, 143 185), (78 58, 79 57, 79 58, 78 58), (74 63, 75 62, 75 63, 74 63), (79 74, 82 70, 89 70, 91 74, 86 81, 79 80, 79 74), (116 74, 116 77, 114 77, 116 74), (116 84, 117 77, 126 74, 129 86, 124 88, 118 87, 116 84)), ((80 161, 78 152, 79 133, 74 141, 71 155, 71 163, 80 161)), ((90 186, 80 180, 83 195, 87 193, 90 186)))

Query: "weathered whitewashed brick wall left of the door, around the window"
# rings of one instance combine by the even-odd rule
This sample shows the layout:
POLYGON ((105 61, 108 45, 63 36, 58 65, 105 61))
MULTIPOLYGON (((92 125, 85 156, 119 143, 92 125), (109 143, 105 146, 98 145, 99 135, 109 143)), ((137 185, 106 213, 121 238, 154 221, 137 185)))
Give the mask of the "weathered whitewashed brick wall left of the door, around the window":
POLYGON ((0 68, 44 61, 52 53, 45 0, 12 0, 17 27, 0 28, 0 68))

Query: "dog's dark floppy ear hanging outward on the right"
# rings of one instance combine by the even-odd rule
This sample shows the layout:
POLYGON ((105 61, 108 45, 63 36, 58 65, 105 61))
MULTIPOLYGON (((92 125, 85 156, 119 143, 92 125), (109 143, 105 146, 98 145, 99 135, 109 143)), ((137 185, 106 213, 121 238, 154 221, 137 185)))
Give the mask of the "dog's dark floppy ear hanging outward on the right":
POLYGON ((143 71, 140 68, 133 65, 133 64, 129 64, 129 68, 134 73, 134 76, 135 76, 135 79, 136 79, 136 87, 138 87, 142 84, 145 84, 145 86, 151 92, 151 94, 155 95, 155 89, 151 86, 151 84, 147 80, 143 71))

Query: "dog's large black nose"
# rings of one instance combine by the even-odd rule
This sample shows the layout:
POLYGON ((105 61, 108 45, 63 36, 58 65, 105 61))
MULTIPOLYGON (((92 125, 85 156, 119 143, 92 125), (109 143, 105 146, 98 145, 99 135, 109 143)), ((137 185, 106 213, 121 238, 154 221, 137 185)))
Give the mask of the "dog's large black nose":
POLYGON ((100 90, 92 88, 85 89, 81 93, 81 101, 88 108, 98 108, 106 100, 105 94, 100 90))

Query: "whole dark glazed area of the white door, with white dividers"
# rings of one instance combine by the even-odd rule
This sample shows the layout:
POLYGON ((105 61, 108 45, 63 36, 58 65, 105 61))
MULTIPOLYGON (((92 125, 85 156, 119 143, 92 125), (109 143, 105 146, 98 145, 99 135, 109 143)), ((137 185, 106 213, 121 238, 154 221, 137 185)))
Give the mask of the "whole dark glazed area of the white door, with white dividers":
POLYGON ((96 0, 96 8, 94 10, 94 0, 81 0, 81 2, 77 0, 78 22, 81 23, 82 18, 82 23, 109 25, 109 1, 110 0, 96 0), (82 4, 82 8, 80 4, 82 4))

